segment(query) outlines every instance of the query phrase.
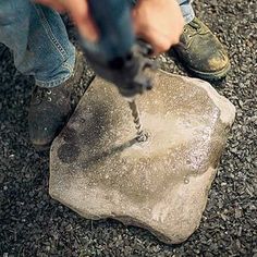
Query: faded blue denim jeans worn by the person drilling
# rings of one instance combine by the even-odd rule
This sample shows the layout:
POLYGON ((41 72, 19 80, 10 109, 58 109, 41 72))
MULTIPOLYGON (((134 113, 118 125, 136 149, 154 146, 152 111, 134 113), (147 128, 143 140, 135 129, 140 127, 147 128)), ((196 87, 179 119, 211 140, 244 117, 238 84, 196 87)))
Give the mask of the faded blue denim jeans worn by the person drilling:
MULTIPOLYGON (((194 19, 188 0, 178 0, 185 22, 194 19)), ((29 0, 0 0, 0 42, 9 47, 14 63, 34 75, 41 87, 54 87, 73 73, 75 48, 60 15, 29 0)))

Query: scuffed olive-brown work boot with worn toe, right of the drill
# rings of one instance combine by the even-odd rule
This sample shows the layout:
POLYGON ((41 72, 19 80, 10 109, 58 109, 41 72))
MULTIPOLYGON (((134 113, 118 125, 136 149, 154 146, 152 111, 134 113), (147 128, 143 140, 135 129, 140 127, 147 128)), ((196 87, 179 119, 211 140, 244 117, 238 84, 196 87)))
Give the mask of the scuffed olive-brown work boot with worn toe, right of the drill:
POLYGON ((197 17, 184 26, 174 47, 179 60, 194 75, 209 81, 224 77, 230 70, 227 51, 219 39, 197 17))

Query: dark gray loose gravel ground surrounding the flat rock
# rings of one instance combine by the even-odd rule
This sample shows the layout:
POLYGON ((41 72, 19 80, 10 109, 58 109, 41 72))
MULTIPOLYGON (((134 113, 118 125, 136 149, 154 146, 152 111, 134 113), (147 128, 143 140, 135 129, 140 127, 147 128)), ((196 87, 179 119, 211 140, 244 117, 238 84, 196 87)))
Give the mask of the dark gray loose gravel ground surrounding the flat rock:
MULTIPOLYGON (((168 246, 145 230, 112 220, 85 220, 51 199, 48 152, 37 154, 27 133, 33 79, 16 72, 4 51, 0 62, 1 256, 257 256, 256 2, 197 0, 195 8, 229 49, 232 71, 215 86, 237 109, 200 228, 185 243, 168 246)), ((71 27, 70 32, 73 36, 71 27)), ((173 60, 160 59, 163 69, 184 74, 173 60)), ((91 73, 86 75, 88 82, 91 73)))

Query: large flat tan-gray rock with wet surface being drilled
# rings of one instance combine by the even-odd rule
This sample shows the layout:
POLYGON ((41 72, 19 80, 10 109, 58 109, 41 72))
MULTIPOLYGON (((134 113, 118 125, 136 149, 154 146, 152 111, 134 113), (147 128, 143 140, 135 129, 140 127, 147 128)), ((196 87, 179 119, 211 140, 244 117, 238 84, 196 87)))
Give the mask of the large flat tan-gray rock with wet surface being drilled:
POLYGON ((149 140, 135 140, 131 110, 95 78, 50 155, 50 195, 88 219, 113 218, 166 243, 199 225, 234 106, 208 83, 151 74, 137 103, 149 140))

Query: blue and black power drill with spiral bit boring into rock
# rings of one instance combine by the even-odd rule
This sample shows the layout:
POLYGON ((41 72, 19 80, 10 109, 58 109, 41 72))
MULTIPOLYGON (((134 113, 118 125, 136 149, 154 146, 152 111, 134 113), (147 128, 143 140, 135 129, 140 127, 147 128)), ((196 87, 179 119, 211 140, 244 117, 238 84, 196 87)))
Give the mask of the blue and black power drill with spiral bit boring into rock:
POLYGON ((95 72, 114 84, 120 94, 128 99, 137 139, 146 140, 139 121, 135 96, 151 89, 145 69, 155 69, 147 57, 151 47, 136 40, 132 27, 131 5, 127 0, 88 0, 90 15, 97 25, 99 40, 83 40, 84 54, 95 72))

